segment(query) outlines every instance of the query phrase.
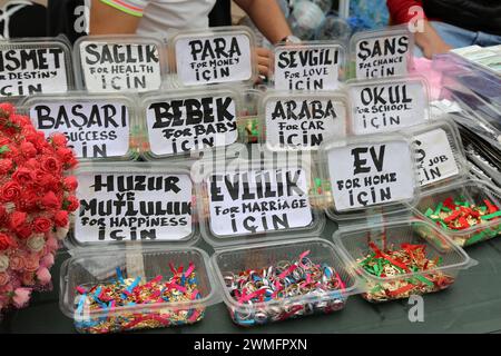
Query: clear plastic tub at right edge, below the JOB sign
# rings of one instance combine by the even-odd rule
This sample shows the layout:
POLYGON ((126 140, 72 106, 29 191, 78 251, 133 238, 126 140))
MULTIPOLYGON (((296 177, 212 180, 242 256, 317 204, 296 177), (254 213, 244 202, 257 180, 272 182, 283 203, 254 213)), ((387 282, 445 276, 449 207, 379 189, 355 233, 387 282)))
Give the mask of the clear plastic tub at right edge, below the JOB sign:
POLYGON ((484 201, 487 199, 492 205, 497 206, 498 209, 501 209, 501 191, 499 188, 481 180, 468 179, 456 181, 445 187, 425 192, 423 191, 421 199, 413 211, 416 214, 418 218, 440 226, 440 228, 459 246, 473 245, 501 235, 500 218, 490 220, 481 219, 481 224, 472 225, 471 227, 463 229, 450 229, 440 224, 440 221, 436 220, 434 212, 438 206, 443 204, 448 198, 452 198, 452 200, 464 198, 461 200, 482 206, 487 206, 484 201), (429 209, 433 210, 433 212, 431 214, 431 210, 429 209))

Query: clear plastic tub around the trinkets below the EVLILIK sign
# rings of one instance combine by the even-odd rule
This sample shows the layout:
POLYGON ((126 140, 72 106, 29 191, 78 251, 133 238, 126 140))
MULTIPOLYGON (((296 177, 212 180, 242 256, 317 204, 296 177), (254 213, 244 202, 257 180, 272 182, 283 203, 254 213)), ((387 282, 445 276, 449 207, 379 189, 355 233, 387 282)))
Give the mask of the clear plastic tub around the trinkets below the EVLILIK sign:
POLYGON ((341 310, 348 296, 356 290, 353 274, 345 267, 344 260, 338 256, 333 244, 318 238, 219 250, 212 256, 212 265, 232 319, 240 326, 263 325, 315 313, 341 310), (305 291, 301 296, 279 297, 250 304, 239 303, 232 296, 230 288, 227 287, 232 284, 229 280, 232 276, 248 269, 258 270, 272 265, 276 266, 283 260, 296 260, 307 250, 310 250, 307 258, 313 264, 326 264, 332 267, 344 286, 333 290, 305 291))

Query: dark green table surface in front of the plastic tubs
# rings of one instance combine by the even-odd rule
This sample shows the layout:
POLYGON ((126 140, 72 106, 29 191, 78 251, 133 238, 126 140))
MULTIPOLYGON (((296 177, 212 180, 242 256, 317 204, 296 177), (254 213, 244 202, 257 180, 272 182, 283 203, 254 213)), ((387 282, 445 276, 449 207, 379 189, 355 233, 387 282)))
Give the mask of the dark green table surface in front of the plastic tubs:
MULTIPOLYGON (((327 222, 323 237, 330 238, 335 224, 327 222)), ((205 244, 202 248, 208 250, 205 244)), ((210 250, 208 250, 210 251, 210 250)), ((244 328, 232 323, 223 303, 207 309, 206 317, 191 326, 145 330, 164 334, 255 334, 255 333, 501 333, 501 239, 468 248, 479 266, 462 271, 450 289, 424 296, 424 322, 411 323, 407 300, 370 304, 360 296, 332 315, 317 315, 244 328)), ((26 309, 8 313, 0 333, 76 333, 73 323, 59 310, 59 268, 67 259, 59 253, 52 267, 55 288, 35 293, 26 309)))

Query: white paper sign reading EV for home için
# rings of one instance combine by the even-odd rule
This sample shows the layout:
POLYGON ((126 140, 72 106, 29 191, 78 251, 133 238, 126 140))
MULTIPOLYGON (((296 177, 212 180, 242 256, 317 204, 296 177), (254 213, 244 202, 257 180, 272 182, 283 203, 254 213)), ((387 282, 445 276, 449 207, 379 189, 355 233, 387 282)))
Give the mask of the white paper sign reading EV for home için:
POLYGON ((328 152, 337 211, 384 205, 414 196, 414 170, 405 141, 347 146, 328 152))

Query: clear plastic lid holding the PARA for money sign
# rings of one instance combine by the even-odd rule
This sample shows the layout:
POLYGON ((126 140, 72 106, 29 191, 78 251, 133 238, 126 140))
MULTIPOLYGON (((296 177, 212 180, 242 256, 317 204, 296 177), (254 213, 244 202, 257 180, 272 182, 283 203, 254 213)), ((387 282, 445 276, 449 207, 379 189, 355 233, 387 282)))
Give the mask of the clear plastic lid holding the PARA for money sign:
POLYGON ((246 27, 178 31, 168 47, 175 51, 173 67, 181 86, 252 85, 257 78, 255 38, 246 27))

